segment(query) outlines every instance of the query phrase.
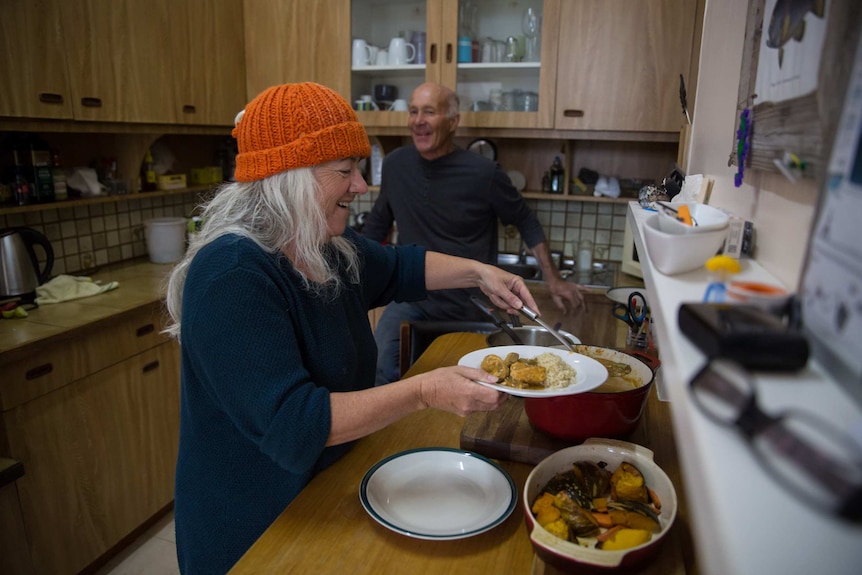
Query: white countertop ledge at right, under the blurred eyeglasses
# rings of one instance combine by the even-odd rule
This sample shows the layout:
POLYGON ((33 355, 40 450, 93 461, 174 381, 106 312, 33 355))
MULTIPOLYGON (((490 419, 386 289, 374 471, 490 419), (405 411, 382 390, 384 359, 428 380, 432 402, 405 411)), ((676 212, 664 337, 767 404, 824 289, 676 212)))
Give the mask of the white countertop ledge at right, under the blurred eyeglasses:
MULTIPOLYGON (((688 382, 705 357, 680 332, 677 313, 683 302, 702 300, 709 277, 705 269, 667 276, 652 267, 642 237, 652 213, 637 202, 629 204, 661 349, 663 383, 673 408, 700 570, 716 575, 859 573, 862 525, 804 506, 765 471, 738 434, 716 425, 692 403, 688 382)), ((781 284, 757 262, 740 263, 738 279, 781 284)), ((765 411, 815 412, 859 437, 862 410, 815 360, 799 373, 758 374, 755 379, 765 411)))

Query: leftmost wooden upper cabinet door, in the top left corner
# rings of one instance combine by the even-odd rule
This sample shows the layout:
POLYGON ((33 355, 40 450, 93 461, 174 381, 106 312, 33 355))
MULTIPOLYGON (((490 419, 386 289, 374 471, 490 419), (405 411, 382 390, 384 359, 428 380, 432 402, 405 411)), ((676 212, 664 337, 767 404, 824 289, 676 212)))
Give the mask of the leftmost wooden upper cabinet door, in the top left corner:
POLYGON ((18 0, 0 7, 0 116, 72 117, 61 2, 18 0))

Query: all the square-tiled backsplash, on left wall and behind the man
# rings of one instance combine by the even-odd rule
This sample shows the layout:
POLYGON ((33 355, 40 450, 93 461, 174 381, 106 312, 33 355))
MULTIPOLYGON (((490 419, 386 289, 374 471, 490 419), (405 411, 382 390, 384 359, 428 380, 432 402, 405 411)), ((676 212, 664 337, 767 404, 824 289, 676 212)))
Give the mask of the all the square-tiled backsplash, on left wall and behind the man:
MULTIPOLYGON (((370 211, 376 199, 376 191, 363 195, 354 203, 354 212, 370 211)), ((78 207, 58 204, 47 210, 0 215, 0 228, 26 226, 43 233, 54 248, 52 274, 80 274, 147 255, 144 221, 188 217, 199 201, 196 192, 189 192, 78 207)), ((626 204, 532 199, 527 204, 544 226, 551 250, 574 257, 577 243, 589 239, 593 259, 622 261, 626 204)), ((520 251, 520 236, 507 231, 501 226, 499 250, 520 251)))

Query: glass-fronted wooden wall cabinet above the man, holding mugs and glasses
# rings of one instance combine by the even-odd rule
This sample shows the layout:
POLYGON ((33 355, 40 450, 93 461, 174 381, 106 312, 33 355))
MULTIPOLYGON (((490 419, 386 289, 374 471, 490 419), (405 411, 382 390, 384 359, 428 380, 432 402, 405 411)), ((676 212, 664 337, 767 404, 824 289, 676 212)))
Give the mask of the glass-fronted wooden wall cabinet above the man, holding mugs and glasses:
MULTIPOLYGON (((409 100, 413 89, 423 82, 438 82, 453 87, 461 99, 461 125, 493 128, 551 128, 554 112, 554 72, 560 0, 353 0, 351 37, 362 38, 386 50, 392 38, 413 32, 426 34, 425 63, 402 66, 368 65, 351 69, 351 101, 362 94, 374 93, 376 84, 392 84, 399 97, 409 100), (472 6, 475 25, 471 36, 479 45, 474 56, 479 61, 458 61, 458 39, 463 33, 461 15, 472 6), (521 19, 527 7, 542 15, 540 56, 535 61, 482 62, 481 45, 493 38, 504 43, 509 36, 521 36, 521 19), (495 107, 492 91, 499 91, 495 107), (524 98, 524 95, 528 95, 524 98), (526 111, 525 102, 537 101, 526 111), (509 105, 506 105, 506 103, 509 105)), ((344 50, 349 53, 351 46, 344 50)), ((405 112, 359 112, 367 126, 403 127, 405 112)))

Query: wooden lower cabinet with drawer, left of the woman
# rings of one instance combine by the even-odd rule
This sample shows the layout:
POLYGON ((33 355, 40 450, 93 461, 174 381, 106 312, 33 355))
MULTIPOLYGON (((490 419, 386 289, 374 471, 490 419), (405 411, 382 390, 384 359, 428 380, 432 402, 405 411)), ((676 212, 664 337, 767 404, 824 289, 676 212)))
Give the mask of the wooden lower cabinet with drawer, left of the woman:
POLYGON ((36 573, 78 573, 173 501, 180 353, 152 325, 160 310, 70 334, 54 342, 60 355, 4 359, 0 454, 26 470, 17 488, 36 573))

